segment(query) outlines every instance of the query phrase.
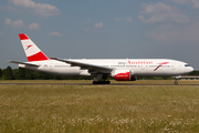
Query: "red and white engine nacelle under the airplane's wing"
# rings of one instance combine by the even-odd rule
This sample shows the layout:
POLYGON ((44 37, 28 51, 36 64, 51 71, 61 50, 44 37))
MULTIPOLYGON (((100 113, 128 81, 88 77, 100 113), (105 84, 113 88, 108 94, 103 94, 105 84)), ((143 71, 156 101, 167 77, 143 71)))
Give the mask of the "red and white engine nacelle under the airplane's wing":
POLYGON ((115 70, 112 78, 115 78, 116 81, 136 81, 137 79, 132 75, 130 70, 115 70))

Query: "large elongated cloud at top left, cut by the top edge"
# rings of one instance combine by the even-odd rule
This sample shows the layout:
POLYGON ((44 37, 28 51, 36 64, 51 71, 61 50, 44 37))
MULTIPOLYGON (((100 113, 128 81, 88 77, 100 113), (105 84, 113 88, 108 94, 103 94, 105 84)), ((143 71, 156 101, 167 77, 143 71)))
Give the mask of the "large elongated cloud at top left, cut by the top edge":
POLYGON ((50 16, 60 14, 60 10, 54 6, 50 6, 49 3, 35 3, 31 0, 9 0, 9 1, 14 6, 29 9, 31 12, 34 12, 35 14, 39 16, 50 17, 50 16))

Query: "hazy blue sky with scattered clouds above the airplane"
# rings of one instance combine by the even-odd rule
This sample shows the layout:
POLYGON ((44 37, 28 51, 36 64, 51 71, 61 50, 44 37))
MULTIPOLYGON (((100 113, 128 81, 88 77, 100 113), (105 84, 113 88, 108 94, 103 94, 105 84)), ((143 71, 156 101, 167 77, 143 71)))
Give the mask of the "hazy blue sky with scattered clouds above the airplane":
POLYGON ((199 0, 1 0, 0 68, 19 33, 61 59, 175 59, 199 70, 199 0))

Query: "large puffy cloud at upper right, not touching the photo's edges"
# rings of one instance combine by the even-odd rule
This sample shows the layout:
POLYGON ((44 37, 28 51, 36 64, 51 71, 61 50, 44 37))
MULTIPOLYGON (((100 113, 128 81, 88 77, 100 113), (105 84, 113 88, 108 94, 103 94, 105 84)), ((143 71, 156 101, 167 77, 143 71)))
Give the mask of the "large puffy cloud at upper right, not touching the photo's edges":
POLYGON ((139 20, 142 20, 143 22, 147 22, 147 23, 190 22, 189 18, 182 14, 179 9, 163 2, 151 3, 151 4, 144 3, 143 8, 144 10, 139 12, 142 16, 138 16, 139 20))

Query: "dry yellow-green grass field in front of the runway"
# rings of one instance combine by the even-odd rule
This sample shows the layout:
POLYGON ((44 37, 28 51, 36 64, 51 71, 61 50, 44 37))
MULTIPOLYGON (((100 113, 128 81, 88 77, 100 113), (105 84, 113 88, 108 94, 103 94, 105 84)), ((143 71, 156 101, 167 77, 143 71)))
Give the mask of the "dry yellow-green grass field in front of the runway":
POLYGON ((0 132, 199 132, 199 86, 0 85, 0 132))

